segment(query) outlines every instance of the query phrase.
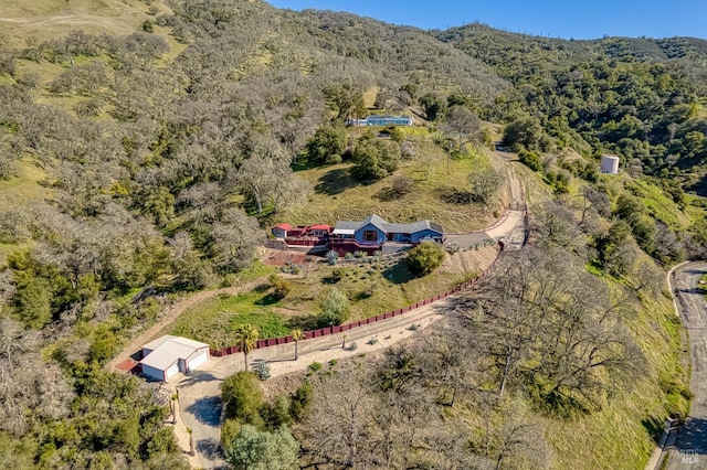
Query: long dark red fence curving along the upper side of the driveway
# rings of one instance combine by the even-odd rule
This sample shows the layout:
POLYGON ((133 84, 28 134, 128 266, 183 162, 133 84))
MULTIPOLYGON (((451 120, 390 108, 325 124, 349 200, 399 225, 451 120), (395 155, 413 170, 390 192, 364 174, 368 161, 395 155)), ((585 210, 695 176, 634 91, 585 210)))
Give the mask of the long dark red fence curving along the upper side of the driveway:
MULTIPOLYGON (((310 330, 310 331, 305 331, 305 340, 310 340, 313 338, 319 338, 319 337, 326 337, 329 334, 337 334, 337 333, 341 333, 344 331, 348 331, 348 330, 352 330, 355 328, 358 327, 362 327, 365 324, 371 324, 371 323, 376 323, 377 321, 381 321, 381 320, 387 320, 389 318, 393 318, 393 317, 398 317, 401 316, 403 313, 409 312, 410 310, 414 310, 418 309, 420 307, 424 307, 428 306, 432 302, 436 302, 437 300, 442 300, 446 297, 450 297, 461 290, 464 289, 468 289, 469 287, 474 286, 479 279, 484 278, 485 276, 487 276, 492 269, 494 268, 494 266, 496 265, 496 261, 498 260, 498 258, 500 257, 500 253, 498 253, 498 255, 496 255, 496 259, 494 259, 494 261, 490 264, 490 266, 488 267, 488 269, 486 269, 485 271, 483 271, 478 277, 461 284, 458 286, 456 286, 453 289, 447 290, 446 292, 440 293, 437 296, 434 296, 430 299, 425 299, 425 300, 421 300, 419 302, 415 302, 411 306, 404 307, 402 309, 399 310, 393 310, 393 311, 389 311, 386 313, 381 313, 377 317, 371 317, 371 318, 367 318, 366 320, 359 320, 359 321, 355 321, 351 323, 346 323, 346 324, 341 324, 338 327, 327 327, 327 328, 320 328, 318 330, 310 330)), ((293 340, 292 335, 287 335, 287 337, 281 337, 281 338, 271 338, 267 340, 258 340, 257 343, 255 343, 255 349, 262 349, 262 348, 270 348, 270 346, 275 346, 278 344, 287 344, 287 343, 292 343, 295 340, 293 340)), ((211 355, 214 356, 223 356, 223 355, 229 355, 229 354, 235 354, 241 352, 239 346, 226 346, 226 348, 222 348, 220 350, 211 350, 211 355)))

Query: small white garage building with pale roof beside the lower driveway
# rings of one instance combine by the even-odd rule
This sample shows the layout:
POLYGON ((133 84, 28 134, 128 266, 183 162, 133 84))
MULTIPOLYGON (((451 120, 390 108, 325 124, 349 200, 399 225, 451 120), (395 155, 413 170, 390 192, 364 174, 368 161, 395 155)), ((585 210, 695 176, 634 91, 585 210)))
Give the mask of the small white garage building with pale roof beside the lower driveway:
POLYGON ((194 371, 209 361, 209 344, 167 334, 143 346, 143 373, 157 381, 194 371))

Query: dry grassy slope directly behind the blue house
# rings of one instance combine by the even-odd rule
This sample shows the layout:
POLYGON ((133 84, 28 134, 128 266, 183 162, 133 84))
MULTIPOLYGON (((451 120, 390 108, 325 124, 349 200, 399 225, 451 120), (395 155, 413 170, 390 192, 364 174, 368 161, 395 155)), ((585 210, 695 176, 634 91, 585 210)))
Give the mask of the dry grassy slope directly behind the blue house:
POLYGON ((394 175, 371 184, 354 180, 349 170, 352 163, 316 167, 298 171, 314 192, 307 202, 283 212, 275 222, 297 225, 314 223, 334 224, 337 221, 361 220, 372 213, 394 223, 431 220, 445 231, 462 232, 483 228, 494 220, 494 211, 505 207, 505 190, 498 192, 490 206, 454 204, 443 200, 444 193, 466 190, 472 171, 489 165, 483 154, 451 159, 431 141, 415 141, 416 157, 402 160, 394 175), (449 164, 449 173, 447 173, 449 164), (408 178, 413 183, 410 193, 393 200, 383 195, 395 177, 408 178))

